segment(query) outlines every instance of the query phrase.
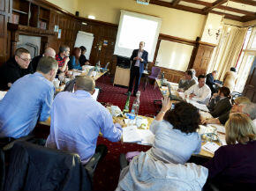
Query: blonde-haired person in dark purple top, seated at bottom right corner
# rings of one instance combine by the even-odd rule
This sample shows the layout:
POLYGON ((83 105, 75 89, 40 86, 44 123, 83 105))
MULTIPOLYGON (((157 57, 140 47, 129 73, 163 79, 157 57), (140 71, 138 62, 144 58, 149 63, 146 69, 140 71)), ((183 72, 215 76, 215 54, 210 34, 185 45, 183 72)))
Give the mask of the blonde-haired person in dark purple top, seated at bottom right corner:
POLYGON ((256 127, 246 114, 235 113, 230 114, 225 129, 228 145, 221 146, 204 165, 209 171, 208 179, 214 179, 220 190, 238 190, 231 187, 239 186, 239 190, 255 190, 256 127), (253 189, 245 188, 250 185, 253 189))

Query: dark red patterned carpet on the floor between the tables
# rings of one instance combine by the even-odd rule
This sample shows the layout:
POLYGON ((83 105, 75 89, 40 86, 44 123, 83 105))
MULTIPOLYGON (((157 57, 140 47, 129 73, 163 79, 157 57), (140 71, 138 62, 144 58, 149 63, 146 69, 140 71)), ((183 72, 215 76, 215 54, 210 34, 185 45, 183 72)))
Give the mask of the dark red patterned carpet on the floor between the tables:
MULTIPOLYGON (((156 114, 153 101, 154 99, 161 99, 162 94, 157 87, 154 89, 154 85, 152 84, 147 84, 147 88, 144 92, 143 85, 144 82, 141 82, 139 87, 141 91, 139 114, 153 116, 156 114)), ((112 103, 123 110, 127 98, 124 92, 127 92, 127 88, 113 86, 110 77, 101 77, 97 80, 96 86, 102 88, 98 101, 112 103)), ((134 97, 131 97, 130 109, 132 108, 134 99, 134 97)), ((120 153, 126 153, 128 151, 147 151, 150 148, 148 146, 132 143, 111 143, 102 136, 98 139, 98 144, 100 143, 107 145, 109 151, 107 156, 98 164, 94 173, 94 191, 113 191, 116 189, 120 173, 120 153)))

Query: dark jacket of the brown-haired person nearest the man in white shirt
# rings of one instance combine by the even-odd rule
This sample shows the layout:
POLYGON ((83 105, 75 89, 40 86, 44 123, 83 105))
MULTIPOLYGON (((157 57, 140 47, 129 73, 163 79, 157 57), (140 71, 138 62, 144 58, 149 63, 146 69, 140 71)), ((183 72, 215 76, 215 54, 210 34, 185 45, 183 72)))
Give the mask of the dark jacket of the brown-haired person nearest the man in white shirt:
POLYGON ((213 116, 213 117, 219 117, 221 116, 222 114, 225 114, 227 112, 230 111, 231 109, 231 103, 230 103, 230 99, 229 98, 223 98, 223 99, 220 99, 214 109, 210 112, 210 114, 213 116))

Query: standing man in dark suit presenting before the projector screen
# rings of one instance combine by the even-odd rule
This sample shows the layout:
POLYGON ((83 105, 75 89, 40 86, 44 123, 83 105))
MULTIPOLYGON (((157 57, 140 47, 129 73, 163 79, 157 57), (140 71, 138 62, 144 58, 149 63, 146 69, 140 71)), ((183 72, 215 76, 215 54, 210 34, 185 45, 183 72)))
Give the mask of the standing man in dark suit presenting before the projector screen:
POLYGON ((144 64, 147 64, 148 53, 146 50, 144 50, 144 47, 145 47, 145 42, 140 41, 139 49, 134 49, 132 52, 132 56, 130 58, 132 62, 132 67, 131 67, 131 73, 130 73, 130 82, 129 82, 128 92, 132 92, 133 81, 135 78, 133 96, 136 96, 136 92, 138 91, 138 88, 139 88, 140 77, 144 71, 144 64))

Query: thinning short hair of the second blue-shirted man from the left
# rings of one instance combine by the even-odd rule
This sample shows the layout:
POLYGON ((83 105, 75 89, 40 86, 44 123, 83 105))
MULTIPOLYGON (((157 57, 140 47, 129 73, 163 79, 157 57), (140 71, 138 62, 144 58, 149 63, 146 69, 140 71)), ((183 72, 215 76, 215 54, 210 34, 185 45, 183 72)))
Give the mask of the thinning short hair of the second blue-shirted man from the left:
POLYGON ((95 88, 95 82, 92 77, 79 76, 76 77, 76 86, 78 90, 92 92, 95 88))

